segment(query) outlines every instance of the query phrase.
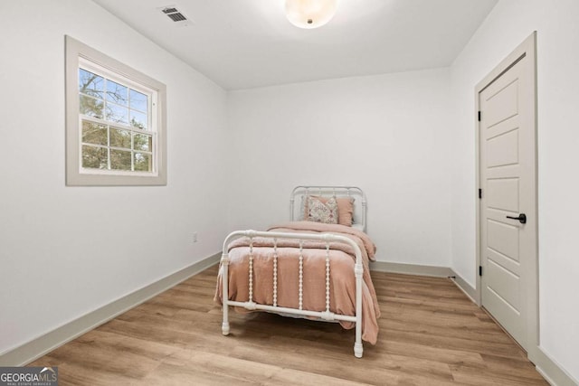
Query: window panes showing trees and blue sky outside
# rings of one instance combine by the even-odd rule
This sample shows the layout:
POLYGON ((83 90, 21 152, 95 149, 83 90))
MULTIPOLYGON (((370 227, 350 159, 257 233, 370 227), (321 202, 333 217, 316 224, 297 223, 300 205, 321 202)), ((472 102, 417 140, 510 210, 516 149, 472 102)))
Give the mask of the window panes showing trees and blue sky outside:
POLYGON ((149 97, 79 68, 82 167, 151 172, 149 97))

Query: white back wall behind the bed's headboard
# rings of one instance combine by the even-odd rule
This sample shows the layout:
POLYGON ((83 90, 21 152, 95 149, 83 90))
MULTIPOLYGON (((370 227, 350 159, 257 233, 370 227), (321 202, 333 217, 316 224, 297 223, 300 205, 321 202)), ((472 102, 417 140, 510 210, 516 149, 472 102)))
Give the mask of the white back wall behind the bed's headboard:
POLYGON ((230 92, 232 227, 288 221, 295 185, 357 185, 377 259, 450 267, 449 84, 445 69, 230 92))

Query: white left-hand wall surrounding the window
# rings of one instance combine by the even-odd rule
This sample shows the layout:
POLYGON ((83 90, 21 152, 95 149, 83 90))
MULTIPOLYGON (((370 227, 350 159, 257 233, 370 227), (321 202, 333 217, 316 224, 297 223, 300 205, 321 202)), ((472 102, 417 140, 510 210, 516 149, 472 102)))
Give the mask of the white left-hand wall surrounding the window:
POLYGON ((90 1, 0 2, 0 58, 4 353, 219 251, 229 162, 223 89, 90 1), (65 186, 64 34, 166 83, 167 186, 65 186))

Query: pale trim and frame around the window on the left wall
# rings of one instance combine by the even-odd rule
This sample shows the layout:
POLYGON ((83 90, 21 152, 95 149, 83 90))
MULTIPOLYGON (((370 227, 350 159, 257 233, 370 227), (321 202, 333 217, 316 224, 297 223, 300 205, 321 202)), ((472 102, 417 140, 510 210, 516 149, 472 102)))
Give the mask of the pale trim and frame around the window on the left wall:
POLYGON ((66 184, 69 186, 166 185, 166 86, 70 36, 66 42, 66 184), (87 60, 157 91, 157 108, 152 118, 157 127, 157 152, 152 173, 87 170, 81 167, 81 127, 79 115, 79 65, 87 60))

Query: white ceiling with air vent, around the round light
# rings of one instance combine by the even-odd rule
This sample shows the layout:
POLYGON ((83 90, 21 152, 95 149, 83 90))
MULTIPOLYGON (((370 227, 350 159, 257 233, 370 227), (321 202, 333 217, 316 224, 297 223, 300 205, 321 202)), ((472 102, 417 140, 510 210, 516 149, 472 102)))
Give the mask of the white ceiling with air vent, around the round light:
POLYGON ((302 30, 284 0, 93 1, 223 89, 447 67, 498 2, 338 0, 334 19, 302 30))

